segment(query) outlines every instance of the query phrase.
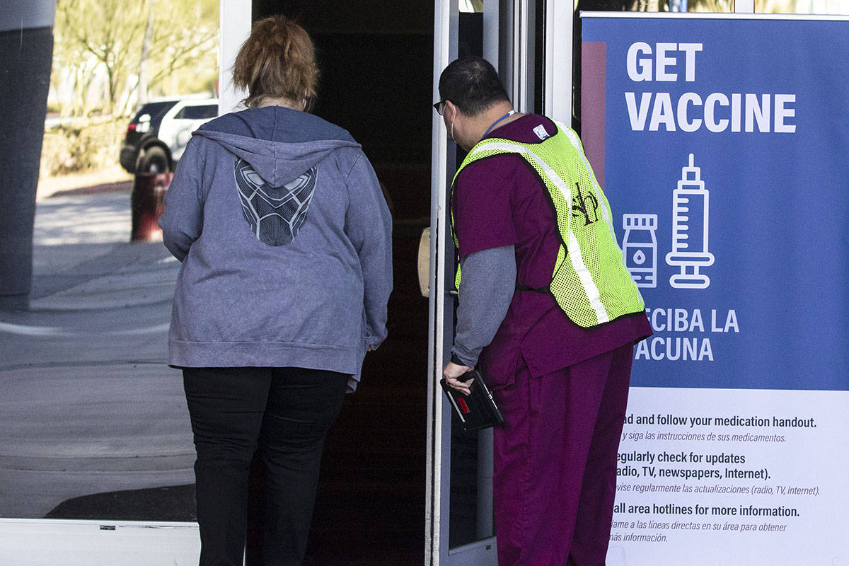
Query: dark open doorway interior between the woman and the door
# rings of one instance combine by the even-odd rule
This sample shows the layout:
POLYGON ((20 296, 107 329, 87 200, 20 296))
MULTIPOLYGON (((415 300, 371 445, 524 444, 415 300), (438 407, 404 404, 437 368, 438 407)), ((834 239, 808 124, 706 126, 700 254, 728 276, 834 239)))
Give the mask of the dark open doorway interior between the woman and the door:
MULTIPOLYGON (((427 300, 416 253, 430 216, 433 3, 254 0, 255 20, 272 14, 312 35, 322 71, 315 114, 363 144, 394 216, 389 339, 366 357, 363 382, 325 443, 305 564, 417 565, 424 560, 427 300)), ((255 488, 259 482, 255 475, 255 488)), ((248 564, 258 563, 259 521, 251 513, 248 564)))

